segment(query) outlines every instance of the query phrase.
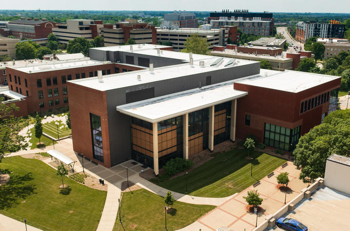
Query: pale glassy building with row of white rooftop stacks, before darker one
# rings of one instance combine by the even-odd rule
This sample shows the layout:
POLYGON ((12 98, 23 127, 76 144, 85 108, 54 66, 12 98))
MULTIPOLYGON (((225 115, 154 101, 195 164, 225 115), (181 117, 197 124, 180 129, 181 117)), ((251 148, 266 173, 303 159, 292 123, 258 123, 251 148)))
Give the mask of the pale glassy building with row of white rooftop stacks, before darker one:
POLYGON ((261 18, 243 19, 238 17, 237 19, 229 19, 228 17, 220 17, 219 19, 210 20, 210 25, 213 28, 221 28, 224 26, 237 26, 241 29, 242 33, 254 36, 270 36, 270 24, 271 21, 264 21, 261 18))

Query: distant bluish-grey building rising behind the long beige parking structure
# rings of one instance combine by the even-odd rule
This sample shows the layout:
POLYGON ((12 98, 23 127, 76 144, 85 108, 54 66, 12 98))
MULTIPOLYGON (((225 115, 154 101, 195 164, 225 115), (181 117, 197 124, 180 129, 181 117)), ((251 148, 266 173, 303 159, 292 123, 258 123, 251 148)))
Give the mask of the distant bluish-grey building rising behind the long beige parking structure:
POLYGON ((161 21, 161 28, 198 28, 198 20, 195 19, 195 14, 193 13, 174 11, 174 13, 164 15, 164 20, 161 21))

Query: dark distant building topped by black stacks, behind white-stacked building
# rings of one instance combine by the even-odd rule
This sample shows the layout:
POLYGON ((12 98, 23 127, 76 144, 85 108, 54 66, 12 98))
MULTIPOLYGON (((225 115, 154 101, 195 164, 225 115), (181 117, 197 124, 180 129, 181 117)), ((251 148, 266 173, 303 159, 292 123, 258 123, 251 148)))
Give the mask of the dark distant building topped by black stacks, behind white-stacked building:
MULTIPOLYGON (((248 10, 234 10, 233 12, 230 10, 222 10, 222 12, 215 11, 210 13, 210 17, 208 17, 208 23, 210 23, 211 20, 219 20, 220 18, 227 18, 228 20, 237 20, 238 18, 241 18, 242 20, 246 21, 253 20, 254 18, 260 18, 262 21, 270 22, 268 36, 273 35, 274 18, 270 12, 265 11, 263 13, 250 13, 248 10)), ((242 29, 241 26, 238 27, 242 29)))

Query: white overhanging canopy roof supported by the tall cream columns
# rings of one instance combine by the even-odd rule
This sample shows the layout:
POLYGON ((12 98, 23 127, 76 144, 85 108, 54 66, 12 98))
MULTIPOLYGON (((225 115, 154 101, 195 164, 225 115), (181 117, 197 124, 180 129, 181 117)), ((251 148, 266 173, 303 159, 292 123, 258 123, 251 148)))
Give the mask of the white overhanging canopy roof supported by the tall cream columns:
POLYGON ((148 121, 160 122, 189 112, 221 104, 247 95, 233 89, 233 81, 164 95, 117 107, 117 111, 148 121))

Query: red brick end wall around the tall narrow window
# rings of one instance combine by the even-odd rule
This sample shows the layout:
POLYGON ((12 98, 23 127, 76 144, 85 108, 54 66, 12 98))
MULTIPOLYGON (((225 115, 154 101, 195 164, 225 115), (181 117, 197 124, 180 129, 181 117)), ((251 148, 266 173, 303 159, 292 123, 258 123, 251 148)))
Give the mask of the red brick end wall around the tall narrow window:
POLYGON ((72 83, 67 83, 67 87, 70 92, 69 111, 74 151, 82 153, 85 157, 105 167, 111 167, 106 92, 72 83), (90 113, 101 117, 103 163, 93 158, 90 113))

